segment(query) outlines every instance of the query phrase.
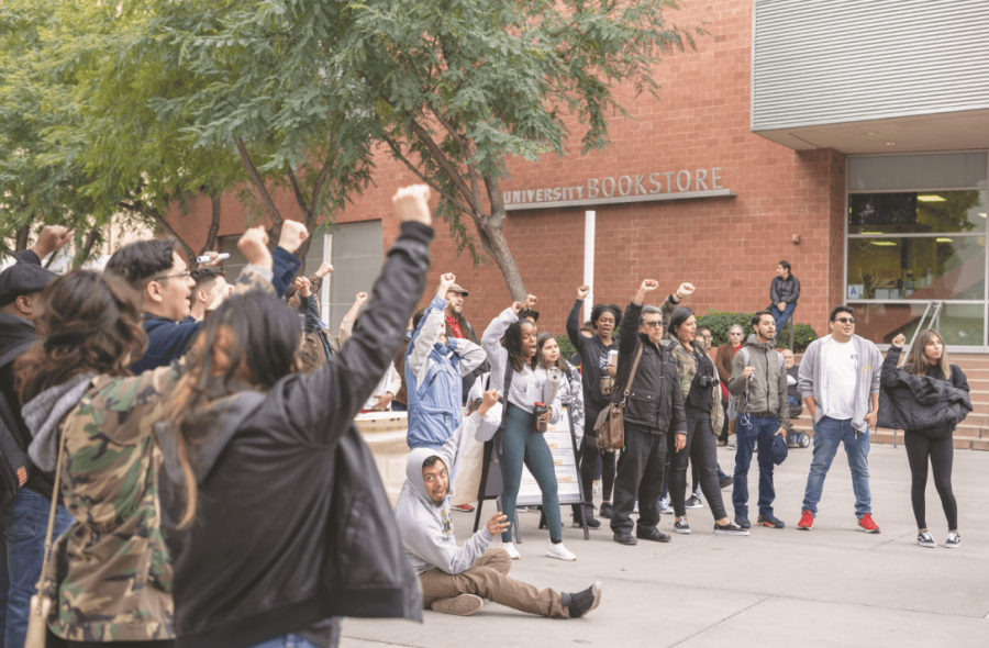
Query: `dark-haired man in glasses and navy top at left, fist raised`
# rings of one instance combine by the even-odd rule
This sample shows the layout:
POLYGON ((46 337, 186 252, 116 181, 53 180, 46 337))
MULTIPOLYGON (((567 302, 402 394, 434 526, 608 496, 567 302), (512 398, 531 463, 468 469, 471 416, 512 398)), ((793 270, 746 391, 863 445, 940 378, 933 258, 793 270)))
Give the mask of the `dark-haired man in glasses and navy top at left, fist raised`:
MULTIPOLYGON (((302 223, 286 221, 282 224, 278 247, 271 255, 275 260, 271 283, 279 297, 285 294, 301 265, 292 253, 299 249, 307 235, 302 223)), ((105 271, 126 279, 143 301, 147 349, 131 365, 131 371, 141 373, 181 357, 202 322, 189 316, 196 281, 176 250, 176 241, 152 238, 125 245, 113 253, 105 271)), ((225 295, 226 292, 219 294, 207 311, 218 308, 225 295)))

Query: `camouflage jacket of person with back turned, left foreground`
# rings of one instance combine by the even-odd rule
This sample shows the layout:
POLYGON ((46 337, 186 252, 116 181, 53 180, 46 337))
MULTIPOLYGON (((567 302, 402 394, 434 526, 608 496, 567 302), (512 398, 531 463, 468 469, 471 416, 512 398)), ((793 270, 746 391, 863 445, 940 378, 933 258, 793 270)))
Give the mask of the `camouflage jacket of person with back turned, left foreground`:
MULTIPOLYGON (((236 293, 274 292, 248 266, 236 293)), ((170 639, 171 565, 162 532, 163 454, 152 426, 184 372, 179 362, 136 377, 97 376, 62 421, 62 494, 75 522, 58 538, 43 591, 48 627, 70 641, 170 639)))

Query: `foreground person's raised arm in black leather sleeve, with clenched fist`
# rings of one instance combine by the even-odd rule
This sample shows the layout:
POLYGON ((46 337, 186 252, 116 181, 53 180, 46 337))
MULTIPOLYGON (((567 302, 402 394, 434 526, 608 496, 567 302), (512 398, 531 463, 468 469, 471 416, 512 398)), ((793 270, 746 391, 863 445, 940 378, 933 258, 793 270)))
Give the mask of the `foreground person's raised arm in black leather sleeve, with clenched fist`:
POLYGON ((371 299, 349 342, 323 367, 287 383, 285 414, 311 443, 332 444, 353 424, 399 347, 425 284, 433 238, 430 190, 418 185, 392 198, 401 233, 388 252, 371 299))

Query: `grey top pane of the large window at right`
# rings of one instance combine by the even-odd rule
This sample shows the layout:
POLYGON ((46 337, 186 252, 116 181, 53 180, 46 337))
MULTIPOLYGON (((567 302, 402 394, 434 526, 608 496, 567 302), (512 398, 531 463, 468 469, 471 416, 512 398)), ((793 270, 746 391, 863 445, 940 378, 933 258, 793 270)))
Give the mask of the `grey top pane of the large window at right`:
POLYGON ((986 187, 986 153, 889 155, 848 160, 848 189, 986 187))

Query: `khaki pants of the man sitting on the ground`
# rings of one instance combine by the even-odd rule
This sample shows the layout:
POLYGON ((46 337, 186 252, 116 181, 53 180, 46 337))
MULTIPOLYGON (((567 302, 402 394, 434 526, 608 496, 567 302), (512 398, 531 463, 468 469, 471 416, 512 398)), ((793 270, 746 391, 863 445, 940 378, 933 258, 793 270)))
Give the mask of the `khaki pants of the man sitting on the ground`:
POLYGON ((509 578, 512 559, 504 549, 491 549, 474 567, 456 576, 431 569, 419 577, 422 582, 422 603, 430 607, 434 601, 475 594, 505 607, 556 618, 569 618, 563 597, 553 590, 542 592, 534 586, 509 578))

